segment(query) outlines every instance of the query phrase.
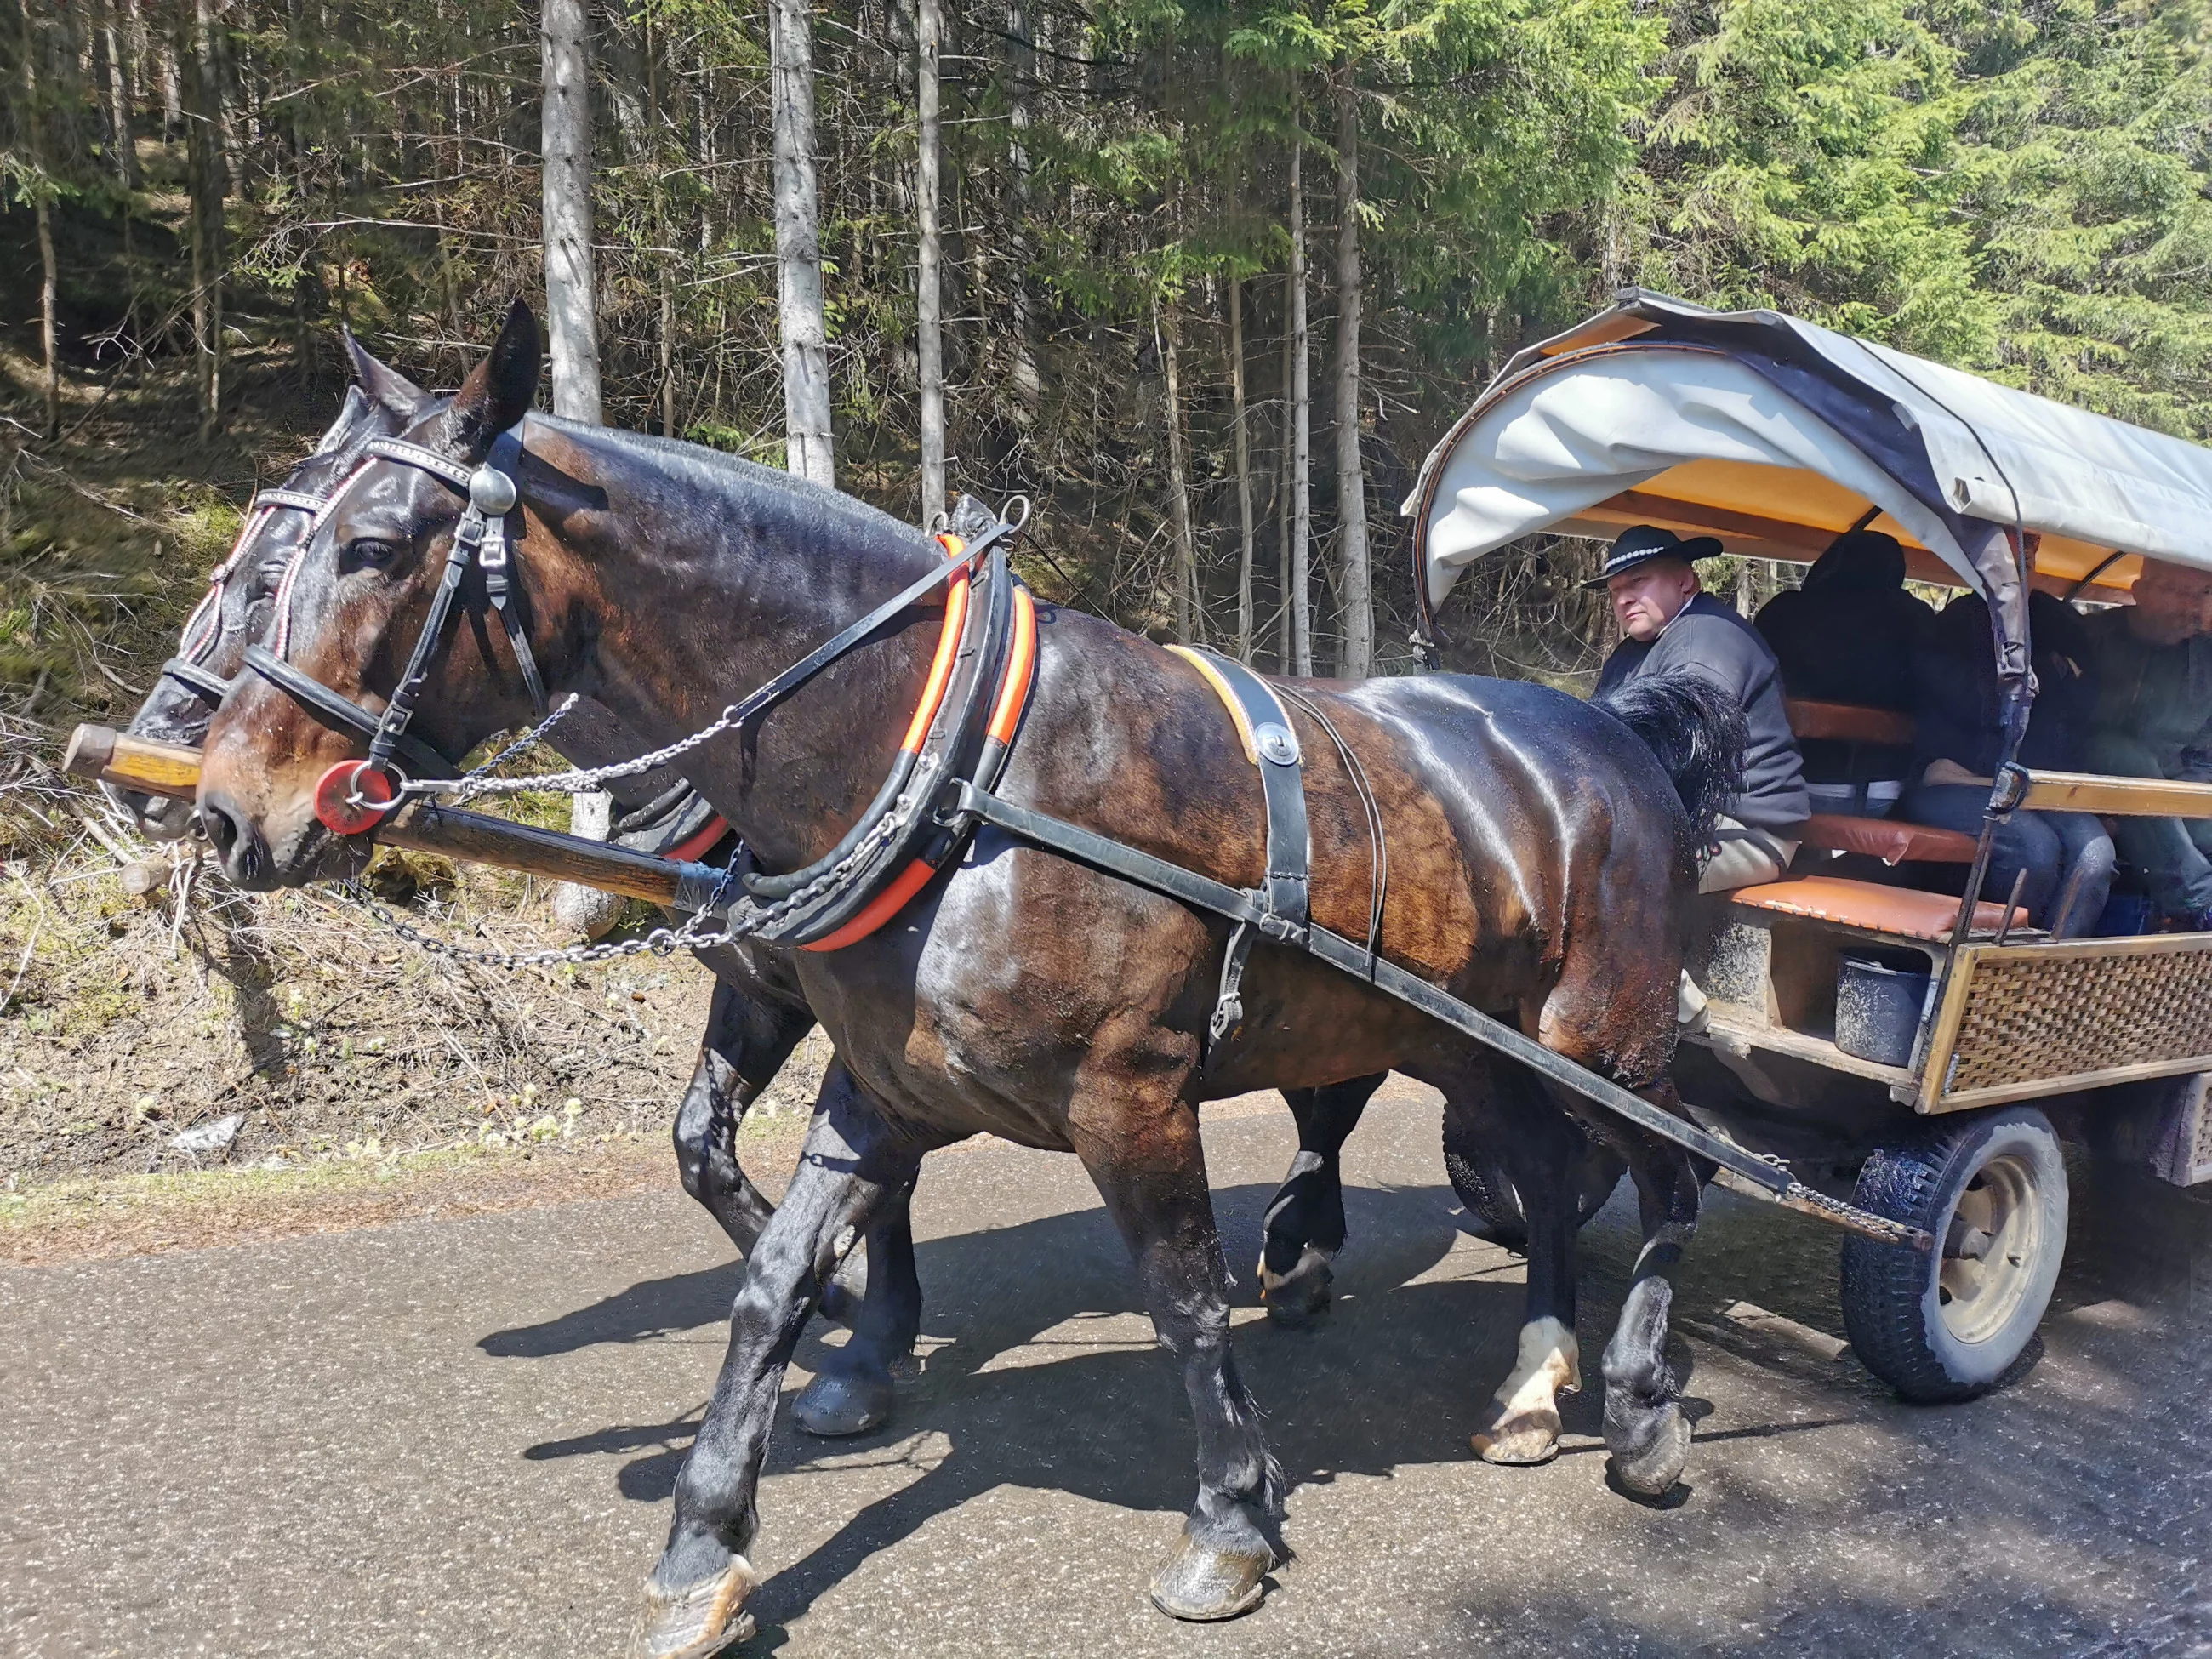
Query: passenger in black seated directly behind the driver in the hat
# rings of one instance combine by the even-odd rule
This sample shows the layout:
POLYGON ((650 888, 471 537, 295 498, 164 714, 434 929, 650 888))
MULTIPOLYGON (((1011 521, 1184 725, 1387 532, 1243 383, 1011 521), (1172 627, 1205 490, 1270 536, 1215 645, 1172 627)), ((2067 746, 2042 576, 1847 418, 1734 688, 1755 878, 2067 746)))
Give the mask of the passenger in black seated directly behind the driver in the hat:
MULTIPOLYGON (((1913 653, 1933 624, 1936 613, 1905 591, 1905 549, 1880 531, 1838 535, 1805 573, 1805 586, 1776 593, 1754 622, 1792 697, 1900 714, 1913 706, 1913 653)), ((1823 812, 1880 816, 1896 801, 1893 781, 1911 763, 1909 750, 1880 743, 1809 739, 1798 752, 1823 812), (1869 783, 1891 783, 1891 790, 1874 790, 1869 799, 1863 794, 1869 783), (1840 787, 1849 787, 1851 799, 1836 799, 1840 787)))

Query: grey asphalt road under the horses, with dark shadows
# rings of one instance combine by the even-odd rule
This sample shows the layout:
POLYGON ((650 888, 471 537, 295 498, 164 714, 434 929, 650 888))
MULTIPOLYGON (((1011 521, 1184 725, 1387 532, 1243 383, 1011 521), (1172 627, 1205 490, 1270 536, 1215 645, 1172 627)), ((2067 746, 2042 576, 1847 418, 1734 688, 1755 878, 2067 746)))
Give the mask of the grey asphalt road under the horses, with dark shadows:
MULTIPOLYGON (((1619 1197, 1564 1455, 1491 1469, 1467 1431, 1520 1265, 1458 1230, 1433 1104, 1394 1088, 1347 1148, 1314 1334, 1241 1270, 1287 1115, 1237 1104, 1206 1144, 1296 1480, 1265 1606, 1146 1604, 1192 1491, 1181 1385, 1075 1161, 987 1144, 922 1177, 900 1418, 779 1427, 748 1652, 2212 1652, 2212 1206, 2077 1186, 2042 1365, 1911 1409, 1838 1354, 1834 1234, 1717 1194, 1677 1298, 1697 1449, 1641 1506, 1597 1438, 1619 1197)), ((0 1652, 622 1652, 734 1283, 675 1192, 0 1272, 0 1652)))

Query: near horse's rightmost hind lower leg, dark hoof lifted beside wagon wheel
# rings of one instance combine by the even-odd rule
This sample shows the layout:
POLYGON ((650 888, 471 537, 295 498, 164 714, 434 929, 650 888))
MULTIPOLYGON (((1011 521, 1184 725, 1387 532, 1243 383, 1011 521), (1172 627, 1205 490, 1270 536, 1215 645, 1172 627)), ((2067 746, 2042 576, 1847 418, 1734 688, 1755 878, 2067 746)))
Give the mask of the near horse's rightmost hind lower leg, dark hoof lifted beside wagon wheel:
MULTIPOLYGON (((1672 1082, 1637 1093, 1668 1110, 1681 1106, 1672 1082)), ((1606 1343, 1606 1449, 1613 1451, 1615 1478, 1628 1491, 1659 1498, 1690 1460, 1690 1420, 1681 1413, 1681 1385, 1666 1360, 1674 1301, 1666 1274, 1697 1232, 1699 1179, 1688 1152, 1646 1137, 1630 1137, 1628 1170, 1637 1181, 1644 1248, 1619 1325, 1606 1343)))

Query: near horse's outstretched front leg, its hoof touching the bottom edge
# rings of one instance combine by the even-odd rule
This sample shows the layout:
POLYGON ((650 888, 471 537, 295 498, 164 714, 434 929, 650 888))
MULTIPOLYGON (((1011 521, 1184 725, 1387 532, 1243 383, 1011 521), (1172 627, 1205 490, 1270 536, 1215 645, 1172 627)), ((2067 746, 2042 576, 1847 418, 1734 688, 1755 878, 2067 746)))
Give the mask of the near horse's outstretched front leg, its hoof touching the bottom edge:
POLYGON ((805 1157, 745 1261, 730 1352, 677 1475, 668 1544, 646 1579, 648 1659, 703 1659, 752 1632, 743 1551, 783 1371, 816 1296, 874 1217, 914 1183, 925 1146, 896 1135, 843 1064, 823 1079, 805 1157))

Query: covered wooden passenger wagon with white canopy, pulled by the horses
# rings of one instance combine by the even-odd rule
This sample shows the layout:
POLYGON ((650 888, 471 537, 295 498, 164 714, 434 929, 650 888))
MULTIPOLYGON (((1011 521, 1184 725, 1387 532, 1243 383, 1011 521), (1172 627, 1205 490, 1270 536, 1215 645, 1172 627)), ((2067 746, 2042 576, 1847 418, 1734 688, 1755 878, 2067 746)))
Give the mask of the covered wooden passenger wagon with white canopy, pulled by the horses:
MULTIPOLYGON (((1876 1376, 1909 1400, 2008 1380, 2066 1250, 2062 1139, 2212 1179, 2212 933, 2062 942, 2004 898, 1900 876, 1955 865, 1951 887, 1980 894, 2011 810, 2212 818, 2212 785, 2011 765, 2031 586, 2124 604, 2146 560, 2212 568, 2212 451, 1776 312, 1624 290, 1504 367, 1405 511, 1431 664, 1458 575, 1533 533, 1659 524, 1805 564, 1876 526, 1916 580, 1989 602, 2011 741, 1980 836, 1823 812, 1783 880, 1701 898, 1690 969, 1710 1024, 1677 1082, 1710 1133, 1936 1239, 1843 1245, 1845 1325, 1876 1376), (1838 982, 1858 1037, 1865 975, 1918 989, 1916 967, 1927 991, 1893 1051, 1838 1044, 1838 982)), ((1798 701, 1790 719, 1840 743, 1913 737, 1880 708, 1798 701)))

